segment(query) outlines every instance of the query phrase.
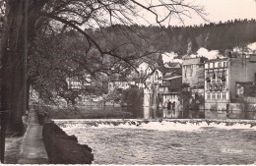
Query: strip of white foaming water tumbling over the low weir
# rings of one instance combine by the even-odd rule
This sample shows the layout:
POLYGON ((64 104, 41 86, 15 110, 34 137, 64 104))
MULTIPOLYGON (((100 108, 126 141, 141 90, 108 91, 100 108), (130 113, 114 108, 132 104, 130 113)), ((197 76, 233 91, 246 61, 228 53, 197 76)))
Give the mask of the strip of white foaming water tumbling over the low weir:
POLYGON ((203 131, 205 128, 216 128, 223 130, 253 130, 256 131, 256 126, 252 126, 251 123, 256 121, 216 121, 208 124, 207 122, 185 122, 180 120, 180 122, 171 122, 171 121, 151 121, 143 122, 136 120, 54 120, 57 125, 65 124, 65 129, 75 130, 77 128, 122 128, 122 129, 143 129, 143 130, 156 130, 156 131, 183 131, 183 132, 196 132, 203 131), (115 122, 115 124, 113 124, 115 122), (243 123, 241 123, 243 122, 243 123), (231 124, 230 124, 231 123, 231 124))

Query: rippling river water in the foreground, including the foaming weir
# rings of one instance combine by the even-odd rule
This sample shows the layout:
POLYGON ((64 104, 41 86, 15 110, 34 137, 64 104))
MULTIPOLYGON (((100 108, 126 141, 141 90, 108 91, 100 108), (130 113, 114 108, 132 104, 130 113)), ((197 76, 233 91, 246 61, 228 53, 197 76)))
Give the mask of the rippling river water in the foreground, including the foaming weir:
POLYGON ((256 127, 230 122, 55 121, 93 148, 95 164, 255 163, 256 127))

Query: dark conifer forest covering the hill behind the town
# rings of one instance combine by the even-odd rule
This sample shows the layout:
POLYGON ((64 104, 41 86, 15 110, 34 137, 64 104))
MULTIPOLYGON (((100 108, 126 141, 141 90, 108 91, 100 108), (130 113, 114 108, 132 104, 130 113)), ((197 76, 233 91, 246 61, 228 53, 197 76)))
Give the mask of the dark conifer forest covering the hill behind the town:
MULTIPOLYGON (((139 49, 141 50, 175 52, 179 56, 196 53, 201 47, 224 53, 226 49, 232 49, 236 46, 246 47, 248 44, 256 42, 256 20, 234 20, 194 27, 118 26, 116 29, 103 28, 103 31, 108 36, 106 43, 108 43, 107 47, 110 48, 113 48, 114 45, 124 44, 129 40, 132 43, 140 43, 139 49), (122 33, 121 29, 129 29, 131 32, 127 33, 125 30, 126 32, 122 33)), ((133 47, 136 45, 133 44, 133 47)), ((131 49, 131 47, 126 47, 124 50, 126 51, 122 52, 126 54, 135 54, 138 51, 138 49, 131 49)))

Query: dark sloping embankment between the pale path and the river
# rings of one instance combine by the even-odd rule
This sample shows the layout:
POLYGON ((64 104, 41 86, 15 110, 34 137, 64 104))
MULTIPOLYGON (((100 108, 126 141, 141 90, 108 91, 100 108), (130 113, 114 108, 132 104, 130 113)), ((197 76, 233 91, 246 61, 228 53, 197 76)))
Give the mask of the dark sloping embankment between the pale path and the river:
POLYGON ((75 136, 68 136, 53 122, 45 123, 42 130, 43 142, 50 164, 92 164, 92 148, 79 144, 75 136))

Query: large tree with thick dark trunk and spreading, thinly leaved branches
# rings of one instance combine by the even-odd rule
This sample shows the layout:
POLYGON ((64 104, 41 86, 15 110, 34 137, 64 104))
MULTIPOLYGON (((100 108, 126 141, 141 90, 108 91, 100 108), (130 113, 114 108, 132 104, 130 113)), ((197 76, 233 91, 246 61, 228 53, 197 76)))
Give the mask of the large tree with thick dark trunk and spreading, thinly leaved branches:
MULTIPOLYGON (((124 63, 134 68, 132 61, 138 57, 126 55, 121 48, 124 45, 134 50, 143 48, 141 43, 133 40, 134 35, 140 36, 139 33, 126 33, 127 30, 132 31, 127 26, 135 25, 135 21, 142 18, 139 11, 153 15, 159 25, 173 15, 182 17, 196 12, 202 16, 203 13, 202 7, 183 0, 177 0, 174 4, 171 0, 150 4, 136 0, 0 0, 0 15, 3 15, 5 29, 0 50, 0 79, 3 82, 0 88, 1 107, 3 110, 12 110, 12 130, 22 133, 22 115, 29 109, 29 99, 26 98, 29 98, 31 84, 44 94, 44 98, 54 99, 57 95, 73 100, 74 93, 70 95, 64 78, 80 73, 77 70, 80 66, 83 66, 81 71, 87 71, 86 74, 92 72, 92 76, 97 76, 97 73, 103 76, 105 59, 112 57, 114 60, 108 60, 112 62, 113 67, 110 69, 113 71, 125 71, 127 65, 124 63), (159 11, 164 9, 166 15, 159 16, 159 11), (121 38, 114 43, 110 40, 111 36, 102 39, 107 31, 102 32, 101 28, 107 27, 119 28, 115 31, 123 33, 127 39, 121 38), (62 38, 61 34, 71 30, 83 36, 81 43, 62 38), (46 42, 43 43, 44 39, 46 42), (29 77, 27 53, 31 73, 29 77)), ((152 53, 152 49, 141 52, 140 57, 147 56, 152 53)), ((81 75, 76 78, 84 80, 81 75)))

